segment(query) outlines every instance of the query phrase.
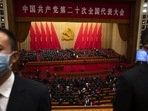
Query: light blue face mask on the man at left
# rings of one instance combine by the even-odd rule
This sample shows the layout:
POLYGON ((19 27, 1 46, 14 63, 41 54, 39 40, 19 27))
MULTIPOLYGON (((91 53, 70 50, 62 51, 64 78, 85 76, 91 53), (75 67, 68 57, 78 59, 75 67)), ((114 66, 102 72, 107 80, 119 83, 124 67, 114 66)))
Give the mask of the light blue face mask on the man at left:
POLYGON ((0 77, 4 75, 8 70, 11 70, 11 65, 9 65, 11 55, 12 54, 0 53, 0 77))

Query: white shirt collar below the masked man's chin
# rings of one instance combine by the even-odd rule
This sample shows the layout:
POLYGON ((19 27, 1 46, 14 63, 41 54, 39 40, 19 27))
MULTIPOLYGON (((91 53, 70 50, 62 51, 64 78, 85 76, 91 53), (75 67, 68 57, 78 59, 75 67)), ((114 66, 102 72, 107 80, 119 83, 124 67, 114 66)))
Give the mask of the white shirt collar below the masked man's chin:
POLYGON ((0 86, 0 94, 9 98, 11 89, 14 83, 14 73, 12 72, 10 77, 0 86))

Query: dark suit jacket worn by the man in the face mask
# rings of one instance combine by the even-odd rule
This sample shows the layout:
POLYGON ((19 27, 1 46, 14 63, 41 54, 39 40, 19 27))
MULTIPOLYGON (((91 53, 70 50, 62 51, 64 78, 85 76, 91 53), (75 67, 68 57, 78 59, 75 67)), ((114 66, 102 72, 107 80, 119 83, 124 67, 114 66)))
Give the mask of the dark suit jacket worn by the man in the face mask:
POLYGON ((47 88, 38 82, 15 76, 6 111, 50 111, 47 88))

